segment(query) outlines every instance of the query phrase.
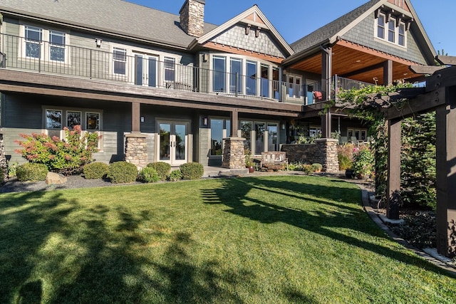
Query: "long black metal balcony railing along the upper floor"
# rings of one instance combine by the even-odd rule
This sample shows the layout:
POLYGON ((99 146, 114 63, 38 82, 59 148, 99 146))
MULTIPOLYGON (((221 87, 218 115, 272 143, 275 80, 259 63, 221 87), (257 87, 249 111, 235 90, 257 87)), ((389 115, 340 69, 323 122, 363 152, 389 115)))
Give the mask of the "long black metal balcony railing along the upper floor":
MULTIPOLYGON (((1 68, 299 105, 321 101, 319 83, 303 85, 225 73, 177 64, 172 58, 159 61, 142 53, 127 56, 121 48, 110 53, 2 34, 1 54, 1 68)), ((348 82, 346 78, 338 79, 348 82)))

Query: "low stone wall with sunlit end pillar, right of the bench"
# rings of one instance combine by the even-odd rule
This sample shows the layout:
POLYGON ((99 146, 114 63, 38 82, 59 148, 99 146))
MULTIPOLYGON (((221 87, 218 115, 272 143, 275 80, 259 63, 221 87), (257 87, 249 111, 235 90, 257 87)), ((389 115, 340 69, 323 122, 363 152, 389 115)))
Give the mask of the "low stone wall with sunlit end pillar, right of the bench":
POLYGON ((322 138, 316 140, 315 144, 282 145, 281 151, 286 152, 289 162, 317 162, 323 166, 323 171, 338 172, 337 144, 338 140, 322 138))

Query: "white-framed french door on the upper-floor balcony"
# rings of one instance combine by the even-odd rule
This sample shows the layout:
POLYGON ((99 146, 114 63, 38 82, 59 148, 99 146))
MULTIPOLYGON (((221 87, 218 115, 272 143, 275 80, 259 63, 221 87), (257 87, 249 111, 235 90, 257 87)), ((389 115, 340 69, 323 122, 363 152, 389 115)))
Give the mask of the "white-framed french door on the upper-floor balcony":
POLYGON ((135 54, 135 85, 157 86, 158 57, 135 54))

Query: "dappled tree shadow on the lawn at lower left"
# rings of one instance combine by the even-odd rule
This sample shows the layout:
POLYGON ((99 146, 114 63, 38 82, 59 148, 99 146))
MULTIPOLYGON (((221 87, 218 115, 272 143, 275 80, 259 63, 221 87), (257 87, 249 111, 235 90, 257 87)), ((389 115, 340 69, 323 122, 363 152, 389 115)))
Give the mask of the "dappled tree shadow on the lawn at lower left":
POLYGON ((190 234, 140 234, 154 223, 147 206, 83 206, 64 192, 9 197, 0 204, 0 303, 242 303, 223 286, 254 285, 252 273, 221 273, 217 261, 196 266, 190 234), (150 234, 164 258, 145 254, 150 234))

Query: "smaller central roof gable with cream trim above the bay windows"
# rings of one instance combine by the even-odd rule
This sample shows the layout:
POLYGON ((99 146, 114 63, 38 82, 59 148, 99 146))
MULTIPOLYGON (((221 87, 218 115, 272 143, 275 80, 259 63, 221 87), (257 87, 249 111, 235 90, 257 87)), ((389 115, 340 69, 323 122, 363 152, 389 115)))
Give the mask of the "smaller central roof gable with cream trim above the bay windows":
POLYGON ((190 48, 197 46, 231 53, 257 53, 266 59, 280 58, 280 61, 294 53, 257 5, 190 44, 190 48))

